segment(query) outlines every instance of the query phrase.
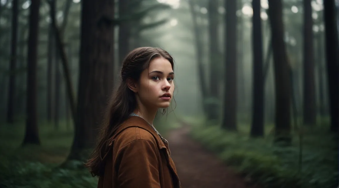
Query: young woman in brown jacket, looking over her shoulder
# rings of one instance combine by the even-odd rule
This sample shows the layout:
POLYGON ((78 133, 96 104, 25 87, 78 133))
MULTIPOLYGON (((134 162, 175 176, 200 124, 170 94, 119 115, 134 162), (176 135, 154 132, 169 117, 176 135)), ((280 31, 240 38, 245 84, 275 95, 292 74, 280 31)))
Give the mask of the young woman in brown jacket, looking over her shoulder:
MULTIPOLYGON (((173 57, 141 47, 125 57, 121 83, 107 108, 98 144, 86 164, 98 188, 180 188, 168 142, 153 126, 174 92, 173 57)), ((163 112, 164 112, 163 111, 163 112)))

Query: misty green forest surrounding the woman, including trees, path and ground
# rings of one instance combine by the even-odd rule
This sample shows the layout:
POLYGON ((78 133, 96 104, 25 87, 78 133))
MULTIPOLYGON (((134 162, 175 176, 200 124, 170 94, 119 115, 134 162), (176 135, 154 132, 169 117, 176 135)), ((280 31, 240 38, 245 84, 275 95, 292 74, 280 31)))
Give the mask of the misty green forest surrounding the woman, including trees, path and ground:
POLYGON ((154 125, 183 188, 337 187, 338 38, 338 0, 0 0, 0 187, 97 187, 84 162, 142 46, 175 59, 154 125))

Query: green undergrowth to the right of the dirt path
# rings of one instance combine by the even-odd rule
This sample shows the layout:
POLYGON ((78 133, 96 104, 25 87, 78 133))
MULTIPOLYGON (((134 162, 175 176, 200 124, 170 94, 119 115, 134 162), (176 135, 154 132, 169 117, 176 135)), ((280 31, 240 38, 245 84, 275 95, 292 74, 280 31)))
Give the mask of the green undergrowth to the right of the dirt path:
MULTIPOLYGON (((273 144, 273 136, 249 138, 249 126, 239 125, 238 133, 202 120, 191 121, 191 136, 215 152, 245 180, 264 188, 334 188, 338 186, 338 138, 327 126, 304 136, 303 157, 299 170, 299 139, 293 137, 290 147, 273 144), (325 130, 326 129, 326 130, 325 130), (271 138, 272 137, 272 138, 271 138)), ((267 126, 269 133, 271 126, 267 126)))

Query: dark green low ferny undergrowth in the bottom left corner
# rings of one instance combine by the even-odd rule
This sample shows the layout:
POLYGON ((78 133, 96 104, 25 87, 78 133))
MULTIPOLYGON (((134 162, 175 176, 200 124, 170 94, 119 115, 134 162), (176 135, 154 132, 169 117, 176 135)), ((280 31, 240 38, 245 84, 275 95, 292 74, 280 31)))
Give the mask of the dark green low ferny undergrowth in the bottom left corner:
MULTIPOLYGON (((82 162, 75 162, 79 166, 82 162)), ((8 188, 94 188, 98 180, 87 169, 54 168, 53 164, 25 161, 2 161, 0 187, 8 188)))

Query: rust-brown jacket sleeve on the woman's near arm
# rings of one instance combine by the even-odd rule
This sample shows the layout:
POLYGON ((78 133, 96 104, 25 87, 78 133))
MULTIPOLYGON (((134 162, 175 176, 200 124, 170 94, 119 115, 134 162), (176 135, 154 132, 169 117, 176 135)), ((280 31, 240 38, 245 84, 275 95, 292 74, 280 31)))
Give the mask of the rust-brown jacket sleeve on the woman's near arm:
POLYGON ((119 149, 119 187, 160 188, 157 152, 156 143, 143 139, 134 140, 119 149))

